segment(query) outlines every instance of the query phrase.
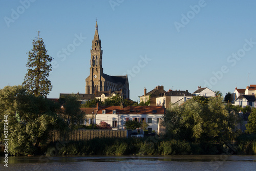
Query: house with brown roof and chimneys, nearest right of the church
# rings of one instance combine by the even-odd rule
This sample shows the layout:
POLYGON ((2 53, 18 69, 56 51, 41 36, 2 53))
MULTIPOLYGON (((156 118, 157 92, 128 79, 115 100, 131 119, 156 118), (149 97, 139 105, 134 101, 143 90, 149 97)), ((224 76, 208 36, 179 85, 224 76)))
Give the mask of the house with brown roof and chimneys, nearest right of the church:
POLYGON ((144 95, 140 96, 140 102, 146 102, 150 100, 150 106, 156 106, 156 98, 159 96, 160 93, 164 93, 163 86, 157 86, 150 92, 146 92, 146 88, 144 88, 144 95))

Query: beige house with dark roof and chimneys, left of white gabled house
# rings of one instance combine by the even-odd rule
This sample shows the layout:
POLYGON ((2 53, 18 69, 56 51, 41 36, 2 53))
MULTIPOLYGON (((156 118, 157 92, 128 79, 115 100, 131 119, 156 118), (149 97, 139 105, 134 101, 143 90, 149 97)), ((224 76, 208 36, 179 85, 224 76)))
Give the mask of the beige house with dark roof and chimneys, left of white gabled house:
POLYGON ((157 106, 164 106, 164 108, 169 107, 169 103, 173 104, 182 104, 186 102, 186 100, 191 99, 192 96, 195 96, 191 93, 186 91, 173 91, 169 89, 168 92, 159 93, 158 97, 156 98, 156 105, 157 106))

